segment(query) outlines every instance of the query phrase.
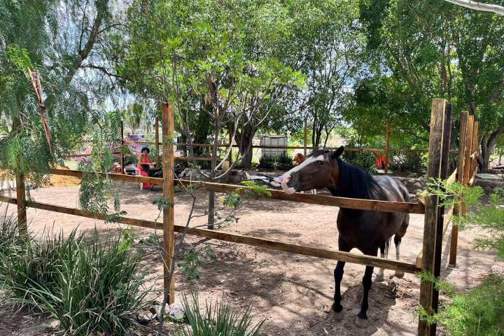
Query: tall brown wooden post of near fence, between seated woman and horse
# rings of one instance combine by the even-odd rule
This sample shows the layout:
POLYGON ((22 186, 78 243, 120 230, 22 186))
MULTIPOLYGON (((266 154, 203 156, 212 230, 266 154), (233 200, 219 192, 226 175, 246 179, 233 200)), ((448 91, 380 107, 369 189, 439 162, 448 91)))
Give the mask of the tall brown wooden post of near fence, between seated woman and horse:
POLYGON ((163 209, 163 258, 165 288, 169 287, 168 303, 174 302, 174 275, 169 279, 175 253, 174 241, 174 111, 173 104, 162 104, 163 197, 169 204, 163 209))

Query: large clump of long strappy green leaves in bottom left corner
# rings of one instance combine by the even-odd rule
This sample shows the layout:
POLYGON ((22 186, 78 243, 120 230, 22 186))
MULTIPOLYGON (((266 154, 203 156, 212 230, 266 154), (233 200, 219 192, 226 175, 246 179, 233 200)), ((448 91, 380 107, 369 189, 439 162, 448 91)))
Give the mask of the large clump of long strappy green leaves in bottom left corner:
POLYGON ((9 300, 57 318, 72 335, 124 335, 146 307, 141 255, 132 253, 131 235, 99 240, 48 235, 30 240, 3 260, 1 289, 9 300))

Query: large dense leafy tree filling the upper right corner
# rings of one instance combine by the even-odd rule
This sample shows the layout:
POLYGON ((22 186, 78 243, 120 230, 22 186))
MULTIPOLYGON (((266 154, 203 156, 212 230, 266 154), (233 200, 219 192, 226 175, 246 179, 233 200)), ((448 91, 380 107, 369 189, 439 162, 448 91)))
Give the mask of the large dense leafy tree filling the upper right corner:
POLYGON ((502 19, 439 1, 363 0, 360 8, 371 76, 393 79, 402 92, 398 112, 408 118, 400 124, 425 129, 433 97, 451 100, 454 111, 468 109, 480 121, 479 169, 486 171, 504 132, 502 19))

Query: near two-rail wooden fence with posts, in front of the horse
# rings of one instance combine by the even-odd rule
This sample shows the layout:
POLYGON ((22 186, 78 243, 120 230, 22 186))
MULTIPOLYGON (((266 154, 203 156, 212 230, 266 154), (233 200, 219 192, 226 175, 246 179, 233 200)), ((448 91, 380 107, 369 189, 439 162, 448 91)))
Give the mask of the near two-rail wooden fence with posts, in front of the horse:
MULTIPOLYGON (((466 116, 466 115, 465 115, 466 116)), ((216 192, 227 192, 230 190, 237 190, 238 188, 246 188, 242 186, 234 186, 222 183, 208 183, 200 181, 186 181, 186 180, 174 180, 173 179, 173 167, 174 167, 174 153, 172 143, 169 141, 173 134, 173 106, 171 104, 162 105, 162 127, 163 127, 163 139, 162 139, 162 161, 163 161, 163 179, 144 177, 144 176, 129 176, 125 174, 106 174, 109 179, 115 181, 126 181, 132 183, 142 183, 149 182, 153 184, 158 184, 163 186, 163 196, 168 197, 170 200, 174 200, 174 185, 179 183, 186 186, 195 186, 196 188, 202 188, 205 190, 213 190, 216 192)), ((464 117, 465 118, 465 117, 464 117)), ((469 117, 470 120, 470 117, 469 117)), ((474 123, 471 121, 467 123, 468 129, 467 134, 471 134, 471 139, 474 134, 477 134, 477 124, 474 128, 474 123), (475 133, 469 132, 469 125, 473 125, 475 133)), ((429 146, 429 166, 428 166, 428 177, 440 179, 447 177, 447 163, 448 163, 448 151, 449 151, 449 139, 451 131, 451 106, 444 99, 434 99, 433 106, 431 110, 431 121, 430 121, 430 146, 429 146)), ((467 135, 466 134, 466 135, 467 135)), ((462 137, 462 134, 461 134, 462 137)), ((471 148, 469 154, 474 153, 474 147, 472 142, 468 141, 469 136, 467 135, 464 141, 461 139, 461 143, 464 143, 464 155, 468 146, 471 148)), ((477 138, 475 138, 477 139, 477 138)), ((460 154, 459 153, 459 159, 460 154)), ((464 167, 472 167, 473 161, 471 157, 474 155, 469 155, 469 162, 464 163, 464 167)), ((464 156, 467 159, 467 155, 464 156)), ((451 174, 450 179, 455 180, 461 179, 460 176, 465 176, 465 168, 460 168, 460 160, 456 172, 463 172, 463 174, 451 174)), ((51 169, 50 174, 64 175, 64 176, 76 176, 81 178, 82 172, 72 171, 72 170, 62 170, 62 169, 51 169)), ((468 171, 468 175, 471 176, 471 172, 468 171)), ((469 181, 469 179, 468 179, 469 181)), ((18 186, 24 186, 23 183, 18 183, 18 186)), ((261 239, 256 237, 236 235, 230 232, 221 232, 216 230, 206 230, 202 228, 190 228, 188 231, 189 235, 195 235, 199 237, 207 237, 210 239, 218 239, 223 241, 231 241, 238 244, 247 244, 251 246, 260 246, 263 248, 271 248, 277 251, 285 251, 290 253, 299 253, 302 255, 310 255, 318 258, 326 258, 330 260, 342 260, 346 262, 352 262, 360 265, 369 265, 374 267, 381 267, 384 269, 393 269, 401 272, 416 273, 420 270, 429 272, 431 274, 439 274, 440 269, 440 251, 441 251, 441 241, 443 235, 443 228, 446 228, 447 221, 446 217, 443 218, 443 209, 438 208, 439 200, 435 195, 428 195, 426 197, 425 205, 421 203, 405 203, 405 202, 386 202, 377 200, 356 200, 345 197, 331 197, 323 195, 308 195, 295 193, 294 195, 287 195, 279 190, 269 190, 271 192, 271 197, 276 200, 287 200, 293 202, 304 202, 309 204, 321 204, 332 207, 344 207, 349 209, 363 209, 370 211, 387 211, 387 212, 403 212, 409 214, 425 214, 425 223, 423 229, 423 248, 421 255, 421 262, 403 262, 400 260, 391 260, 388 258, 377 258, 370 255, 360 255, 356 253, 348 253, 342 251, 329 250, 324 248, 315 248, 309 246, 300 246, 297 244, 289 244, 282 241, 273 241, 269 239, 261 239)), ((106 219, 106 214, 92 214, 87 211, 82 211, 80 209, 73 209, 68 207, 60 207, 53 204, 45 204, 42 202, 32 202, 26 200, 25 190, 18 188, 17 198, 0 196, 0 201, 10 202, 13 204, 18 204, 19 223, 21 228, 26 228, 26 208, 32 207, 35 209, 43 209, 47 211, 55 211, 62 214, 71 214, 75 216, 83 216, 87 218, 98 218, 106 219)), ((167 272, 169 272, 169 267, 171 267, 171 261, 173 260, 174 253, 174 233, 182 232, 184 230, 183 226, 174 224, 173 216, 174 204, 169 205, 165 211, 163 211, 163 221, 162 223, 157 223, 153 221, 144 221, 136 218, 119 218, 118 223, 124 223, 127 225, 139 226, 142 228, 151 229, 162 229, 163 230, 163 244, 165 248, 165 258, 167 262, 165 263, 165 286, 167 285, 167 272)), ((452 237, 453 241, 453 237, 452 237)), ((452 242, 453 248, 453 242, 452 242)), ((456 245, 455 245, 456 248, 456 245)), ((454 250, 456 253, 456 249, 454 250)), ((172 281, 174 278, 172 277, 172 281)), ((169 301, 173 302, 174 292, 173 292, 173 282, 171 283, 172 291, 169 295, 169 301)), ((432 314, 433 311, 437 309, 437 297, 433 283, 425 279, 421 280, 421 293, 420 293, 420 303, 428 314, 432 314)), ((425 321, 419 321, 419 335, 434 335, 435 325, 428 325, 425 321)))

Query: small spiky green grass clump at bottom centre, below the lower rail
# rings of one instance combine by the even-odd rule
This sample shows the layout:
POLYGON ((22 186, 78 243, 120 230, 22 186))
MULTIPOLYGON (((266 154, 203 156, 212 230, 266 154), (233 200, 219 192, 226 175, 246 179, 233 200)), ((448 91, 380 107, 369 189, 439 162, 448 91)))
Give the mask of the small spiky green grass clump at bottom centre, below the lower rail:
POLYGON ((182 298, 188 326, 178 330, 179 336, 258 336, 266 321, 252 325, 250 306, 239 314, 224 300, 206 301, 205 307, 200 307, 197 293, 192 293, 191 298, 191 303, 187 295, 182 298))

